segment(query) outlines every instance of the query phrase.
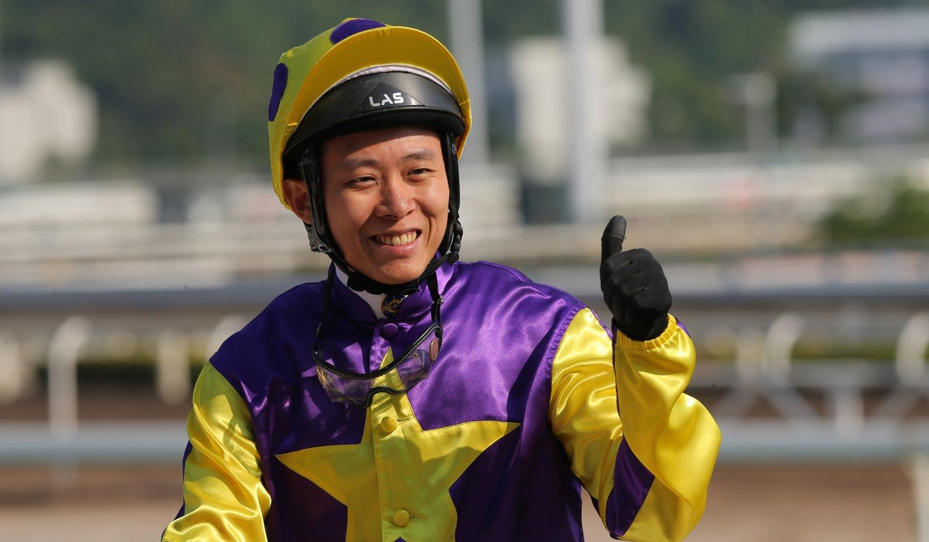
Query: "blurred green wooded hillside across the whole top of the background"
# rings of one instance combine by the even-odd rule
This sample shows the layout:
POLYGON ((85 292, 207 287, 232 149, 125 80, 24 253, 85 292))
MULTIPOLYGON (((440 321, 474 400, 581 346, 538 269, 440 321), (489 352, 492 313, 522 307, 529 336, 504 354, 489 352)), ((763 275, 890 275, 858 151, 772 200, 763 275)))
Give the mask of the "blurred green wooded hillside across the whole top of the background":
MULTIPOLYGON (((783 69, 787 25, 798 13, 921 3, 603 4, 607 33, 622 37, 635 64, 650 74, 647 145, 661 150, 731 147, 740 141, 742 112, 726 99, 726 77, 783 69)), ((561 5, 560 0, 483 2, 489 50, 505 50, 519 36, 557 33, 561 5)), ((447 41, 446 10, 443 0, 0 0, 0 54, 7 64, 44 57, 72 62, 101 106, 98 162, 236 156, 263 166, 268 89, 281 52, 349 16, 408 24, 447 41)))

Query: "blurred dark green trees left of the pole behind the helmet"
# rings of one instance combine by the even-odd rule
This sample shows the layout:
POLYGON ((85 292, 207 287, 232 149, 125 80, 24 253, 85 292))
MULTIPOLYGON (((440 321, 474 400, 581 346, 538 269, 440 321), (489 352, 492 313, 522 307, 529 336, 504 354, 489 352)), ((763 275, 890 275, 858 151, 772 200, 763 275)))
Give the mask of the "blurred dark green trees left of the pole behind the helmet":
POLYGON ((330 2, 0 0, 10 59, 62 58, 94 88, 98 160, 264 164, 271 74, 281 53, 348 16, 444 33, 444 6, 330 2))

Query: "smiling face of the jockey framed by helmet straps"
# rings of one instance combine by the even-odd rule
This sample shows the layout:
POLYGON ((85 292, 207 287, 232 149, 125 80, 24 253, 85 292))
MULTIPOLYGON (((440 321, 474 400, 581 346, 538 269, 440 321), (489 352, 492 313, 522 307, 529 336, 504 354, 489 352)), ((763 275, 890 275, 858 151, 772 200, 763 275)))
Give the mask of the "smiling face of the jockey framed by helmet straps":
POLYGON ((335 244, 352 269, 384 284, 422 274, 448 225, 449 180, 435 132, 402 126, 330 139, 321 183, 335 244))

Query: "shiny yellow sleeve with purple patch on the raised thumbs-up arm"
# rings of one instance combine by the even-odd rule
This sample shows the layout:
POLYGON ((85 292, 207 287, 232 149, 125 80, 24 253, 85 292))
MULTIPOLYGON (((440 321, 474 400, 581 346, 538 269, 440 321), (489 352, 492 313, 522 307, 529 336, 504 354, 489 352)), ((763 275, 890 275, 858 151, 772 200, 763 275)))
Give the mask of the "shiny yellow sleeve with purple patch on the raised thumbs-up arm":
POLYGON ((613 350, 593 312, 578 312, 553 362, 552 428, 611 535, 681 540, 703 513, 720 443, 684 394, 693 344, 669 316, 660 337, 620 335, 613 350))

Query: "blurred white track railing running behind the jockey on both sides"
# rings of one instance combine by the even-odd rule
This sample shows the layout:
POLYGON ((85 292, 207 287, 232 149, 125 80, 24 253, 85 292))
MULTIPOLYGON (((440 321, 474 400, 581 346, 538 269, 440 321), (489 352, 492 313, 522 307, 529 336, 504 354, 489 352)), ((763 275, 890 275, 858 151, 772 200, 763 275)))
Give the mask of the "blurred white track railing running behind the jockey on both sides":
MULTIPOLYGON (((911 413, 916 402, 929 399, 926 318, 925 313, 915 313, 899 330, 896 365, 890 360, 794 359, 795 345, 808 325, 805 317, 793 313, 772 318, 764 332, 752 327, 730 332, 725 337, 735 352, 732 363, 698 365, 699 373, 691 386, 695 395, 718 396, 708 405, 726 434, 722 459, 896 460, 929 453, 929 419, 911 413), (752 407, 759 403, 767 403, 777 416, 752 415, 752 407)), ((207 328, 181 329, 177 324, 165 324, 158 330, 137 330, 154 339, 155 387, 161 400, 167 404, 187 401, 190 350, 201 345, 197 348, 204 348, 203 354, 209 357, 243 324, 241 315, 229 313, 207 328), (203 341, 203 337, 207 339, 203 341)), ((113 325, 112 321, 94 322, 91 316, 76 315, 61 322, 47 337, 47 423, 44 429, 41 424, 0 425, 4 435, 0 461, 51 462, 59 483, 66 484, 79 462, 104 457, 110 461, 177 459, 183 446, 181 419, 79 421, 78 364, 86 351, 113 331, 113 325)), ((17 338, 5 335, 3 343, 12 346, 7 346, 3 363, 18 367, 9 375, 27 375, 32 366, 17 357, 17 338)), ((3 387, 7 402, 16 399, 16 390, 28 388, 9 375, 3 387)))

